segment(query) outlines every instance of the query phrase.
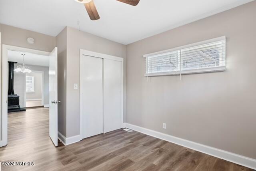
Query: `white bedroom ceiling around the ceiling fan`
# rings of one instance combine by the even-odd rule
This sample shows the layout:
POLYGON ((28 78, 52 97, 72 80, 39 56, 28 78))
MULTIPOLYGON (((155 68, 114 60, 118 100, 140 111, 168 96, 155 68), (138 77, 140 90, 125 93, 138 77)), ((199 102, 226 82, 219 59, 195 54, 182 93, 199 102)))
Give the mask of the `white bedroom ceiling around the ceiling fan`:
POLYGON ((0 23, 51 36, 65 27, 129 44, 253 0, 140 0, 130 6, 94 0, 100 20, 91 21, 74 0, 0 0, 0 23), (78 22, 80 21, 80 26, 78 22))

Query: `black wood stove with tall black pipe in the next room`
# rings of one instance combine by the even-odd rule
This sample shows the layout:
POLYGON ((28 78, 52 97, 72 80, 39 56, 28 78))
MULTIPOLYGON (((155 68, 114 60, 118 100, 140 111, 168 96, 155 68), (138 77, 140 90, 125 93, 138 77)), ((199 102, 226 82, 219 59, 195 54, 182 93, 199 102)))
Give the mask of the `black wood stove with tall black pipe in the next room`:
POLYGON ((20 100, 17 94, 14 93, 14 64, 17 62, 9 63, 9 78, 8 78, 8 112, 14 111, 26 111, 24 108, 20 108, 20 100))

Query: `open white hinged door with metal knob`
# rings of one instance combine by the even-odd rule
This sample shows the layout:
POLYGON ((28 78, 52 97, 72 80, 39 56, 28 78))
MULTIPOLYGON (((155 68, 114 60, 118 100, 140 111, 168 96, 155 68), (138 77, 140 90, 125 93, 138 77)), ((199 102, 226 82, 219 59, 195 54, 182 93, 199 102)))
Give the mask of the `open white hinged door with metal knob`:
POLYGON ((58 146, 58 52, 57 48, 49 56, 49 135, 58 146))

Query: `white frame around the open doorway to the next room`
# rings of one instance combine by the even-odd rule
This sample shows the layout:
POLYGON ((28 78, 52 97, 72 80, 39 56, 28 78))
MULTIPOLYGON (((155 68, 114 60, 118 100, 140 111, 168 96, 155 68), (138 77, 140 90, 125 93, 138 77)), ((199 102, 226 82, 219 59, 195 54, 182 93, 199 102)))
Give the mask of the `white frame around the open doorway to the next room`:
POLYGON ((32 54, 49 56, 50 52, 34 50, 29 48, 21 48, 18 46, 2 45, 2 143, 1 147, 7 145, 8 139, 8 50, 20 51, 20 52, 29 52, 32 54))

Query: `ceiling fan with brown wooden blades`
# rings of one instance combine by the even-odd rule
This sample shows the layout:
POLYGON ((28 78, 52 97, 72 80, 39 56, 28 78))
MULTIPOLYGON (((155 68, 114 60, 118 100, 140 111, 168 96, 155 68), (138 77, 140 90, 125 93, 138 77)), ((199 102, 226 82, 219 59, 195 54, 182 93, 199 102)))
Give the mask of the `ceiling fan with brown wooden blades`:
MULTIPOLYGON (((98 20, 100 19, 100 16, 96 10, 96 7, 94 5, 93 0, 75 0, 76 2, 79 2, 81 4, 84 4, 84 7, 86 11, 88 12, 88 15, 91 20, 98 20)), ((123 2, 132 6, 138 5, 140 0, 117 0, 119 2, 123 2)))

